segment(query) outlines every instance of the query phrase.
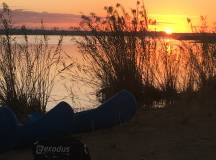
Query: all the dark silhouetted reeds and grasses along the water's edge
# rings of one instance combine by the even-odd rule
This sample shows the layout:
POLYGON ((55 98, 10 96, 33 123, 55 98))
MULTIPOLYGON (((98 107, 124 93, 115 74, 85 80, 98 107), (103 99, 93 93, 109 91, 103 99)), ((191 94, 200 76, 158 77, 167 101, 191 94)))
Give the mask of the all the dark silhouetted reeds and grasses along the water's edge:
MULTIPOLYGON (((25 118, 30 112, 46 111, 54 80, 60 73, 57 68, 62 58, 62 37, 56 47, 48 44, 45 35, 30 44, 25 33, 31 30, 23 26, 24 41, 16 40, 11 35, 11 31, 16 30, 12 27, 10 10, 6 4, 3 6, 0 103, 25 118)), ((154 32, 148 31, 156 21, 148 17, 143 2, 138 1, 131 12, 121 4, 104 9, 106 17, 94 13, 82 16, 80 29, 85 32, 76 41, 87 62, 87 66, 78 65, 78 72, 84 72, 90 78, 80 78, 78 72, 76 76, 87 85, 97 86, 96 96, 100 102, 127 89, 145 106, 173 104, 182 97, 190 99, 206 93, 212 86, 214 88, 216 42, 213 39, 180 42, 153 36, 154 32), (147 32, 151 36, 144 34, 147 32), (93 77, 96 82, 91 81, 93 77)), ((190 19, 188 22, 193 27, 190 19)), ((205 17, 201 17, 200 28, 192 31, 211 32, 206 23, 205 17)), ((44 31, 43 27, 37 33, 41 31, 44 31)), ((64 67, 62 71, 70 65, 64 67)))

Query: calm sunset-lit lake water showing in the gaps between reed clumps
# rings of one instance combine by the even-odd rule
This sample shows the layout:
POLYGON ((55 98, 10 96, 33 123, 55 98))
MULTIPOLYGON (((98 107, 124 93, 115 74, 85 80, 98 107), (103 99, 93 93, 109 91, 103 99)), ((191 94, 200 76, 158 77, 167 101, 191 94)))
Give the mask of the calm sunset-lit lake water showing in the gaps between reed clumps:
MULTIPOLYGON (((23 42, 22 36, 17 36, 16 38, 19 42, 23 42)), ((29 42, 34 44, 35 38, 36 36, 29 36, 29 42)), ((95 108, 99 105, 95 96, 97 85, 92 85, 97 80, 92 75, 83 72, 83 67, 88 64, 83 60, 82 54, 75 43, 75 39, 79 40, 80 38, 72 36, 64 37, 62 46, 63 55, 67 54, 72 57, 68 58, 65 56, 64 62, 66 66, 71 63, 74 65, 70 68, 70 74, 69 72, 65 72, 55 80, 47 110, 60 101, 68 102, 77 111, 95 108), (73 96, 71 96, 70 91, 73 92, 73 96)), ((58 44, 58 39, 58 36, 49 36, 50 47, 55 47, 58 44)), ((175 87, 178 90, 184 89, 184 85, 190 80, 188 73, 191 67, 188 64, 190 63, 189 57, 191 53, 188 52, 190 48, 186 48, 183 52, 182 48, 186 47, 189 43, 188 41, 185 43, 170 39, 157 39, 156 50, 153 50, 149 54, 150 63, 146 63, 143 70, 146 71, 148 70, 147 68, 151 68, 150 72, 154 75, 153 83, 156 87, 163 87, 169 81, 169 78, 174 76, 175 87)), ((200 51, 198 48, 195 49, 200 51)), ((195 52, 194 56, 202 58, 199 54, 195 52)), ((199 61, 199 58, 197 60, 199 61)), ((59 70, 61 69, 59 68, 59 70)), ((89 70, 88 67, 84 69, 89 70)))

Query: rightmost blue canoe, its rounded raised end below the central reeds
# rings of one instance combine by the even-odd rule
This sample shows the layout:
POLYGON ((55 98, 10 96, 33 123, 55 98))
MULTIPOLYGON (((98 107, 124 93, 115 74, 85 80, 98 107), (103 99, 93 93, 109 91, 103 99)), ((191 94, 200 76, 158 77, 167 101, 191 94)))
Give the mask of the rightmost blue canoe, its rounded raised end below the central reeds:
POLYGON ((121 91, 96 109, 74 114, 73 133, 109 128, 129 121, 136 112, 135 97, 121 91))

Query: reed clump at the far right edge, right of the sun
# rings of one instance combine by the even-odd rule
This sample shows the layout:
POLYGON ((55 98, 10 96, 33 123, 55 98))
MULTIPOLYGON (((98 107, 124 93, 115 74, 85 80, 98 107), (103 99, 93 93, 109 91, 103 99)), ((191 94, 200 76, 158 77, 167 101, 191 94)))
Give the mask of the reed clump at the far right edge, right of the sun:
MULTIPOLYGON (((196 28, 199 33, 214 33, 209 29, 206 17, 201 16, 200 27, 196 28)), ((191 26, 192 22, 190 21, 191 26)), ((195 29, 192 28, 192 31, 195 29)), ((203 88, 213 84, 216 78, 216 41, 202 39, 200 41, 183 43, 183 52, 187 54, 187 80, 185 90, 187 92, 202 92, 203 88)), ((214 87, 213 87, 214 88, 214 87)), ((206 90, 206 89, 205 89, 206 90)))

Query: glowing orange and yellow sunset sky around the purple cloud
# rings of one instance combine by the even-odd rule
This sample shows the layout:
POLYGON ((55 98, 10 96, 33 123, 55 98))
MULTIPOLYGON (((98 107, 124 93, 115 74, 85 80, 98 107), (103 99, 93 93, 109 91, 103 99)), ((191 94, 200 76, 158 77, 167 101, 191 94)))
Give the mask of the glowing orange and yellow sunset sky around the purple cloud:
MULTIPOLYGON (((123 4, 126 9, 134 8, 136 5, 136 0, 5 0, 4 2, 12 9, 31 11, 37 16, 42 16, 42 14, 38 15, 37 12, 48 12, 49 15, 52 15, 51 13, 61 13, 59 15, 55 14, 58 19, 53 18, 54 15, 52 15, 52 19, 56 20, 56 23, 55 20, 52 20, 53 24, 63 24, 64 18, 59 22, 59 19, 61 19, 59 17, 61 15, 64 17, 65 14, 78 15, 80 12, 85 14, 95 12, 98 15, 104 15, 103 7, 115 5, 117 2, 123 4)), ((209 25, 216 22, 215 0, 145 0, 144 2, 149 16, 159 22, 158 30, 171 29, 173 32, 189 32, 190 27, 187 24, 187 17, 190 17, 193 23, 197 25, 200 15, 208 17, 209 25)), ((22 22, 21 20, 20 17, 20 22, 22 22)), ((65 20, 65 24, 68 23, 70 21, 65 20)))

